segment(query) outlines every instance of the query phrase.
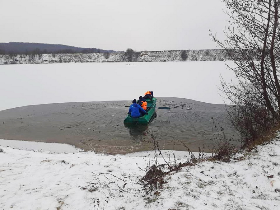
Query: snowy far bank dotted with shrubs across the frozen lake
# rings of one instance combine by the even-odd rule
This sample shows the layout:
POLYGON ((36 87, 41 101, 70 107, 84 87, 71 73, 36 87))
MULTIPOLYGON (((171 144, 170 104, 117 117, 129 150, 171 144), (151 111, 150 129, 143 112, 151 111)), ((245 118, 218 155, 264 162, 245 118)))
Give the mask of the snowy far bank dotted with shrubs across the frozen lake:
POLYGON ((165 62, 165 61, 222 61, 230 57, 224 50, 171 50, 134 52, 131 60, 125 53, 89 53, 89 54, 33 54, 0 55, 0 64, 31 63, 85 63, 85 62, 165 62))

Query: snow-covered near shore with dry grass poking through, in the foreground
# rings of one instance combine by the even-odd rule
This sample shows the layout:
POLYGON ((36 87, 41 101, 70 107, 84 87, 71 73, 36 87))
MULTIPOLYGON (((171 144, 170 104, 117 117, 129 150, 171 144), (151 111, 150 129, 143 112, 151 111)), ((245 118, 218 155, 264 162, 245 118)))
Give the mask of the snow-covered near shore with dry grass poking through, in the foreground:
MULTIPOLYGON (((139 184, 141 169, 153 159, 147 152, 53 153, 49 143, 41 143, 39 152, 30 151, 32 145, 22 150, 15 142, 6 147, 2 141, 0 209, 279 209, 278 139, 241 152, 229 163, 204 161, 183 167, 149 195, 139 184)), ((187 158, 184 155, 178 153, 187 158)))

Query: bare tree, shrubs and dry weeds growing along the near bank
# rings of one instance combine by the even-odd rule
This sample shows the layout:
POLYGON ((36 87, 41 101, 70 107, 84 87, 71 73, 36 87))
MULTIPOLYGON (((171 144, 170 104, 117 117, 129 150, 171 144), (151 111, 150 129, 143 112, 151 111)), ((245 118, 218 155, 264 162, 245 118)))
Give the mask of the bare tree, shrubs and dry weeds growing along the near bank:
MULTIPOLYGON (((211 33, 211 38, 226 50, 234 61, 233 67, 227 66, 238 78, 231 84, 221 78, 221 91, 230 100, 227 114, 232 126, 238 132, 241 149, 252 150, 256 145, 271 141, 280 129, 280 27, 279 1, 237 1, 225 0, 226 13, 230 18, 225 31, 226 40, 220 41, 211 33), (232 53, 232 52, 236 53, 232 53)), ((164 176, 181 167, 193 165, 198 161, 229 162, 236 153, 223 128, 214 125, 212 141, 218 142, 212 156, 191 158, 184 163, 157 162, 161 156, 156 136, 151 133, 155 159, 153 165, 145 168, 141 181, 147 193, 162 186, 164 176), (215 135, 214 135, 215 133, 215 135)), ((203 152, 202 152, 203 154, 203 152)))

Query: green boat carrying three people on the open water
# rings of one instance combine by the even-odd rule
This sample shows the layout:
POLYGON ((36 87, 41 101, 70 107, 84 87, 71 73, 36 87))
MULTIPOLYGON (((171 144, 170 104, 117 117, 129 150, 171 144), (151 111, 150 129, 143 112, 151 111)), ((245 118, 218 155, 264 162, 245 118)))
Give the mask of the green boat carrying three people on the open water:
POLYGON ((146 99, 147 101, 147 112, 148 114, 145 114, 142 117, 133 118, 130 116, 130 114, 127 115, 127 117, 124 119, 124 124, 139 124, 139 125, 147 125, 151 119, 153 118, 155 112, 156 112, 156 98, 146 99))

